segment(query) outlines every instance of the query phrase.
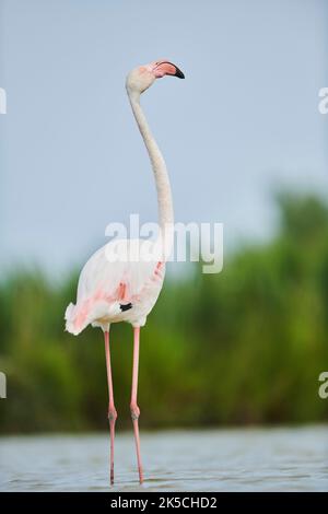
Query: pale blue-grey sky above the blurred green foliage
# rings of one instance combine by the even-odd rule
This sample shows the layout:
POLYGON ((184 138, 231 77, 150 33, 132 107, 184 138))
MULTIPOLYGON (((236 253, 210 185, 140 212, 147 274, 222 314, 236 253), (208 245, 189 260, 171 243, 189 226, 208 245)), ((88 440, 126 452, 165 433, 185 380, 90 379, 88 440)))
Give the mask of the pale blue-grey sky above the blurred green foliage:
POLYGON ((181 222, 223 222, 225 245, 270 237, 272 191, 328 192, 326 0, 0 0, 0 264, 80 266, 110 221, 156 220, 125 90, 159 58, 142 105, 181 222))

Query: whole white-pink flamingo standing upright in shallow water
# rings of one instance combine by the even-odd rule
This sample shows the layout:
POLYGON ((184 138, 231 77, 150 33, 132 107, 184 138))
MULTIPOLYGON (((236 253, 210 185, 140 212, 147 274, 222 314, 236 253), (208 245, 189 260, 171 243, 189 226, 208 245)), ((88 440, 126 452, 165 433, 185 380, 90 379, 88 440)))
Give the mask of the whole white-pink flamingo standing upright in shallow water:
POLYGON ((126 80, 126 89, 132 113, 149 153, 156 185, 160 231, 152 248, 154 249, 160 242, 160 246, 156 246, 157 249, 160 248, 160 253, 154 252, 153 258, 145 259, 142 258, 142 250, 149 241, 110 241, 107 245, 95 252, 83 267, 78 283, 77 304, 73 305, 71 303, 67 307, 65 315, 66 329, 75 336, 90 324, 93 327, 99 327, 104 332, 109 397, 110 484, 114 483, 114 440, 117 411, 114 404, 109 327, 112 323, 119 322, 130 323, 133 327, 130 411, 133 423, 139 481, 140 483, 143 481, 139 436, 140 409, 137 402, 140 328, 145 325, 147 316, 155 305, 163 285, 165 258, 167 257, 167 252, 164 252, 164 247, 168 242, 169 248, 174 213, 165 161, 142 112, 140 95, 147 91, 156 79, 161 79, 165 75, 173 75, 179 79, 185 78, 177 66, 162 59, 133 69, 126 80), (127 249, 131 252, 128 253, 127 249), (113 250, 117 257, 116 259, 108 258, 113 250), (136 258, 136 253, 138 258, 136 258), (130 258, 126 258, 127 255, 130 256, 130 258), (131 258, 131 256, 133 256, 133 258, 131 258))

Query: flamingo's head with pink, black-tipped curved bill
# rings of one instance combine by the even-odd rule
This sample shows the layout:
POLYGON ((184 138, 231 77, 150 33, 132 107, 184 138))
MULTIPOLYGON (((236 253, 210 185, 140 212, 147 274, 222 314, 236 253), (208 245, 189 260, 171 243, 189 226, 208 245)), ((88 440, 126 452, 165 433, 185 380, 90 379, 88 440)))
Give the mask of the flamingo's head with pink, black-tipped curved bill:
POLYGON ((156 79, 172 75, 178 79, 185 79, 184 73, 176 65, 166 59, 161 59, 149 65, 134 68, 127 77, 127 90, 129 93, 141 94, 148 90, 156 79))

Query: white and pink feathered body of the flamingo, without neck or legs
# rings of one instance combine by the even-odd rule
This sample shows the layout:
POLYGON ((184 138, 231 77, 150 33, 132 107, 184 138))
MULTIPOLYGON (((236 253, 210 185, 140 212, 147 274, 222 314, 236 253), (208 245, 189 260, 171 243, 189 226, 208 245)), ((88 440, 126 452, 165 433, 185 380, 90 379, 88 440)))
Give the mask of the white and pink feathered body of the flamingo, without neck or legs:
POLYGON ((78 335, 89 324, 104 330, 117 322, 144 325, 165 274, 164 262, 140 257, 144 244, 143 240, 120 240, 118 246, 117 241, 110 242, 92 255, 79 278, 77 304, 71 303, 66 311, 69 332, 78 335), (110 250, 114 244, 118 258, 113 261, 110 250), (122 258, 124 252, 132 246, 132 252, 122 258))

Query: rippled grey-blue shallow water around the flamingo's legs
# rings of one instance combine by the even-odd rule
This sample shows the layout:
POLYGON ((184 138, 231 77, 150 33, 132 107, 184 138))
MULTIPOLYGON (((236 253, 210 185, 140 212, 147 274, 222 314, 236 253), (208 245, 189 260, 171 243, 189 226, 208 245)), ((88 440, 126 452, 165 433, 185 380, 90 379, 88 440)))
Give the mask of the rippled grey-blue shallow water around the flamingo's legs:
POLYGON ((327 491, 327 427, 141 433, 145 482, 138 484, 132 433, 116 437, 0 439, 2 491, 327 491))

